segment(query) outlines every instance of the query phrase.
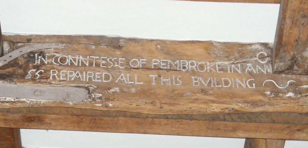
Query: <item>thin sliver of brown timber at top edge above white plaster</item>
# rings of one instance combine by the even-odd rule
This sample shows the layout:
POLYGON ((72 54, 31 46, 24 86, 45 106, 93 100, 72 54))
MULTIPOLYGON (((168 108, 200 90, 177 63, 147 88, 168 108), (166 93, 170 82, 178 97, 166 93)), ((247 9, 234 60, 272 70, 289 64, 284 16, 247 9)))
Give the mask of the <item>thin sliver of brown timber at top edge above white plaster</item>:
POLYGON ((197 1, 197 2, 242 2, 242 3, 280 4, 280 0, 180 0, 180 1, 197 1))

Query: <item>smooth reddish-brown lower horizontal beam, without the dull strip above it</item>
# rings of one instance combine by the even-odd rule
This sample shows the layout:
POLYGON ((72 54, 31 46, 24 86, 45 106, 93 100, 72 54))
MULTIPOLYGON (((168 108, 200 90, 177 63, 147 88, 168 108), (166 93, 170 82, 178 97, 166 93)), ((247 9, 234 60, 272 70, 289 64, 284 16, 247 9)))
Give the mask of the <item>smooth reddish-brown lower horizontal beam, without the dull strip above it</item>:
POLYGON ((0 126, 118 133, 308 140, 307 125, 0 113, 0 126), (4 122, 5 121, 5 122, 4 122))

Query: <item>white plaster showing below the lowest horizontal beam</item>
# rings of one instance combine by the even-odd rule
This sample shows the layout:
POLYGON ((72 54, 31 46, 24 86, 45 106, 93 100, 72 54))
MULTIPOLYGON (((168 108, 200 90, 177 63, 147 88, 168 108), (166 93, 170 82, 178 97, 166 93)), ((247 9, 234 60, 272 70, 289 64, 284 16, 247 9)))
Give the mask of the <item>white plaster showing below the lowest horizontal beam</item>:
MULTIPOLYGON (((22 129, 26 148, 243 148, 245 139, 22 129)), ((285 148, 307 148, 307 141, 286 141, 285 148)))

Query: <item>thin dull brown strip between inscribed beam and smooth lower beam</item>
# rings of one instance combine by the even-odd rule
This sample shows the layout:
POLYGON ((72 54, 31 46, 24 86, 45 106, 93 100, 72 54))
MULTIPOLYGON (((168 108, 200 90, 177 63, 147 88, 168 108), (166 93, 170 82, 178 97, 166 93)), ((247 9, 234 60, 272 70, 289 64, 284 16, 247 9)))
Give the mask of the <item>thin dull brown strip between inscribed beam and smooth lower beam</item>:
POLYGON ((186 119, 198 121, 225 121, 243 123, 307 125, 305 113, 225 113, 225 114, 145 114, 127 111, 105 111, 97 109, 76 109, 71 107, 20 107, 0 109, 0 113, 59 114, 87 117, 127 117, 146 119, 186 119))

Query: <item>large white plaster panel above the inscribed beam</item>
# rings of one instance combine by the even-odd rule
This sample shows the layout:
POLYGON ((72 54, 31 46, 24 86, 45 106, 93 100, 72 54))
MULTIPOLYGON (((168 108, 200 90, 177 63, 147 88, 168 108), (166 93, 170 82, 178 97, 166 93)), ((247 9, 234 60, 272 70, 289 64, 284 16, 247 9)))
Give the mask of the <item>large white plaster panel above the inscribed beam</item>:
POLYGON ((279 5, 168 0, 0 0, 3 32, 273 42, 279 5))

